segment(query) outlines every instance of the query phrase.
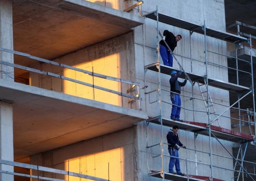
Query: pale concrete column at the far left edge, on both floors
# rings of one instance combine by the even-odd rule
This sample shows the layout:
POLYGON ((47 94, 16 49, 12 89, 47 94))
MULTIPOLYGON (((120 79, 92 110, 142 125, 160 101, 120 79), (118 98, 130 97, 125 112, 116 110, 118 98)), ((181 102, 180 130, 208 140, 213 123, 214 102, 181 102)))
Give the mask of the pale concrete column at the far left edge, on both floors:
MULTIPOLYGON (((13 49, 12 2, 0 0, 0 47, 13 49)), ((13 63, 13 54, 0 52, 0 60, 13 63)), ((14 81, 13 67, 0 64, 0 79, 14 81)), ((12 104, 0 100, 0 159, 13 161, 12 104)), ((13 172, 13 166, 0 164, 0 170, 13 172)), ((13 181, 13 175, 0 173, 0 181, 13 181)))

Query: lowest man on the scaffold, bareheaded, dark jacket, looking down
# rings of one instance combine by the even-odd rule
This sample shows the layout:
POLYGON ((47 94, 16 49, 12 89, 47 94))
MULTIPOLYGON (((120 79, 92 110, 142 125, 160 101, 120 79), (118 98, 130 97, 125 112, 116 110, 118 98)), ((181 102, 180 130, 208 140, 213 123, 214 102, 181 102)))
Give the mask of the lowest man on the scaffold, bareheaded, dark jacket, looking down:
POLYGON ((183 147, 186 149, 186 146, 183 145, 178 136, 179 127, 173 126, 172 131, 170 131, 166 138, 168 142, 168 151, 170 153, 170 162, 169 162, 169 172, 172 174, 177 174, 184 176, 184 173, 181 173, 180 171, 180 159, 179 159, 179 149, 180 147, 183 147), (175 156, 175 157, 172 157, 175 156), (177 157, 177 158, 176 158, 177 157), (175 165, 176 172, 173 171, 173 167, 175 165))

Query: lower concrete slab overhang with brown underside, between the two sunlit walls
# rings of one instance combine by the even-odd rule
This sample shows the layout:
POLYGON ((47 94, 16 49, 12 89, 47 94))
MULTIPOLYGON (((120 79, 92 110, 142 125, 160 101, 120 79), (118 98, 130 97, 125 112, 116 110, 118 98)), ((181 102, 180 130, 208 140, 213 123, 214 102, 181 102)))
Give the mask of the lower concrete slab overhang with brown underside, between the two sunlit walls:
POLYGON ((148 118, 139 110, 2 79, 0 99, 13 105, 15 159, 132 127, 148 118))

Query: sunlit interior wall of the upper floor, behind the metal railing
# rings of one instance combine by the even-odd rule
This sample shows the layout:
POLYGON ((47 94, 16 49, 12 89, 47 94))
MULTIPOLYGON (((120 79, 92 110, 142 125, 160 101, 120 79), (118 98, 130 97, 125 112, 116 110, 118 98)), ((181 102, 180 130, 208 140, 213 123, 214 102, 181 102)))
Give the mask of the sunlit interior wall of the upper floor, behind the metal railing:
MULTIPOLYGON (((53 61, 106 76, 131 80, 130 72, 134 67, 133 53, 133 33, 130 32, 55 58, 53 61)), ((126 93, 130 86, 48 63, 36 64, 33 68, 123 93, 126 93)), ((30 73, 30 85, 113 105, 130 106, 128 98, 51 76, 30 73)))

